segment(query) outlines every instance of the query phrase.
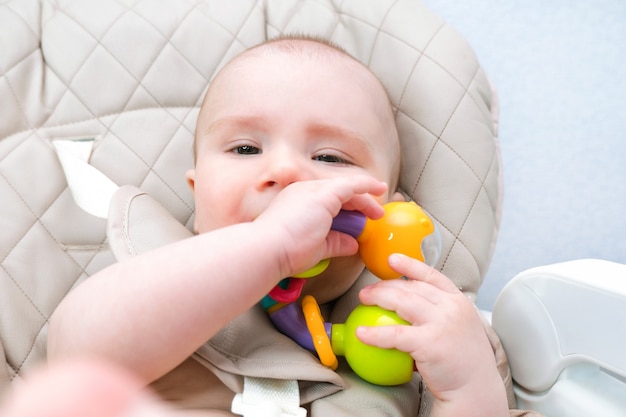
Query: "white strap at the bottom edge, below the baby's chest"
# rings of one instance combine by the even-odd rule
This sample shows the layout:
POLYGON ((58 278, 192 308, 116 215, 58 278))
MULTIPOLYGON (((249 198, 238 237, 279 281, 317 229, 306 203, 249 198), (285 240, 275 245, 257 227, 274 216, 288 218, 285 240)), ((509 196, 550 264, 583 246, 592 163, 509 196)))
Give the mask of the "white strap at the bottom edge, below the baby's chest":
POLYGON ((235 395, 231 411, 244 417, 306 417, 300 407, 298 381, 245 377, 243 393, 235 395))

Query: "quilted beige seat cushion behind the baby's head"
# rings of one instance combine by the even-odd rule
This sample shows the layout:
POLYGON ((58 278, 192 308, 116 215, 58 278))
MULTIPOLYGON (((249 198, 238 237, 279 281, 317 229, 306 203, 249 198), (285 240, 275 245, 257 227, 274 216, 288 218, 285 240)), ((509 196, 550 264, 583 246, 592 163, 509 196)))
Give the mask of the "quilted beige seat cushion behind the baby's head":
POLYGON ((497 106, 465 41, 416 0, 2 0, 0 385, 45 358, 47 320, 114 261, 105 221, 74 202, 52 146, 93 139, 89 163, 181 223, 198 106, 247 47, 285 32, 331 38, 397 107, 401 187, 434 215, 438 267, 473 296, 499 224, 497 106))

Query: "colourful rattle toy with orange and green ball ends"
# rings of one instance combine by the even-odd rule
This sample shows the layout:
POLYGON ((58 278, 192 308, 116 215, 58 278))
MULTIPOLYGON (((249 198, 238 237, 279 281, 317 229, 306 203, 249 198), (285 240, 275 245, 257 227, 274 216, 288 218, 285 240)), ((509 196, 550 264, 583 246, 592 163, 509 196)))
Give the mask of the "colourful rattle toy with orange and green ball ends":
MULTIPOLYGON (((381 279, 400 275, 387 262, 392 253, 402 253, 434 265, 441 251, 435 223, 417 204, 392 202, 384 205, 385 215, 371 220, 360 212, 342 210, 332 229, 353 236, 365 266, 381 279)), ((305 349, 316 352, 329 368, 338 366, 344 356, 352 370, 377 385, 399 385, 411 380, 413 358, 396 349, 382 349, 362 343, 356 337, 359 326, 409 324, 394 312, 378 306, 357 306, 344 324, 324 322, 317 301, 300 297, 305 279, 321 274, 329 265, 326 259, 298 276, 282 280, 261 302, 274 325, 305 349)))

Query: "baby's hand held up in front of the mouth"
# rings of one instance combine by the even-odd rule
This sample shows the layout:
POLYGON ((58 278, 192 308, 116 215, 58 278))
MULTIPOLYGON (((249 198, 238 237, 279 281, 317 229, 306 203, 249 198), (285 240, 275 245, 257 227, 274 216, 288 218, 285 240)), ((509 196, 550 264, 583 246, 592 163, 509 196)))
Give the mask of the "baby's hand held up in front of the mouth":
POLYGON ((332 220, 341 209, 382 217, 374 196, 386 191, 383 182, 364 175, 300 181, 282 190, 256 220, 278 236, 282 276, 303 272, 322 259, 354 255, 355 239, 332 231, 332 220))

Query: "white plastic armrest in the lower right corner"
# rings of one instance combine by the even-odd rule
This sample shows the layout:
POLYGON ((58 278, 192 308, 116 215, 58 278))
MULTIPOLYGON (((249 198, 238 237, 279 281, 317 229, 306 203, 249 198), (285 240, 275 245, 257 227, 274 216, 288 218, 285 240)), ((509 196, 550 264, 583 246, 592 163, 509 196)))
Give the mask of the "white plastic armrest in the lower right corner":
POLYGON ((626 416, 626 265, 585 259, 522 272, 492 321, 520 407, 626 416))

